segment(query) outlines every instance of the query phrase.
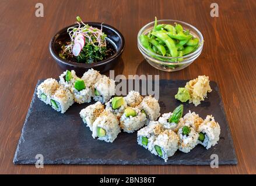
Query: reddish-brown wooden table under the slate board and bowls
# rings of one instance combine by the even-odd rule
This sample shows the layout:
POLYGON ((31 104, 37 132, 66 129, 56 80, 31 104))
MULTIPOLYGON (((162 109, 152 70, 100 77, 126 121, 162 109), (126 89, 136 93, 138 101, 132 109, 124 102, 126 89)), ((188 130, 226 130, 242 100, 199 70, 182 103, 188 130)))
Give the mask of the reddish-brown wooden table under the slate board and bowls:
POLYGON ((251 1, 0 1, 0 173, 15 174, 234 174, 256 173, 256 2, 251 1), (35 5, 44 5, 44 17, 35 5), (211 3, 219 17, 211 17, 211 3), (237 153, 237 166, 73 166, 14 165, 13 156, 37 80, 57 78, 61 69, 50 56, 49 41, 75 22, 104 22, 125 37, 125 51, 115 74, 159 74, 162 79, 191 79, 205 74, 220 87, 237 153), (174 73, 150 66, 137 48, 146 23, 183 20, 204 35, 201 56, 174 73))

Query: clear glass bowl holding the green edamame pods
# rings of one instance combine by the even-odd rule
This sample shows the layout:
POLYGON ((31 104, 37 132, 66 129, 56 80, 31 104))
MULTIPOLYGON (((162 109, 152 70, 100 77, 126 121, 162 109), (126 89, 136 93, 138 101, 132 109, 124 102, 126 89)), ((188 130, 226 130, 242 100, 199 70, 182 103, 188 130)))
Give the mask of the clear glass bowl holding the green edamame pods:
POLYGON ((201 54, 203 46, 204 46, 204 37, 202 36, 201 32, 197 30, 194 26, 191 24, 181 22, 178 20, 158 20, 157 24, 172 24, 174 23, 181 24, 183 26, 184 30, 190 30, 190 33, 199 39, 199 45, 196 51, 189 53, 188 55, 182 56, 182 57, 168 57, 168 56, 162 56, 157 55, 156 53, 153 53, 143 47, 141 44, 141 41, 139 41, 139 35, 141 34, 148 34, 150 30, 153 29, 155 22, 151 22, 146 24, 139 30, 137 41, 138 41, 138 48, 139 51, 142 53, 143 57, 146 59, 146 61, 155 67, 156 69, 163 70, 163 71, 178 71, 181 69, 184 69, 185 67, 189 66, 192 62, 194 62, 195 59, 198 58, 198 56, 201 54), (152 57, 155 56, 155 57, 152 57), (156 59, 157 58, 157 59, 156 59), (181 62, 171 62, 171 60, 182 60, 181 62))

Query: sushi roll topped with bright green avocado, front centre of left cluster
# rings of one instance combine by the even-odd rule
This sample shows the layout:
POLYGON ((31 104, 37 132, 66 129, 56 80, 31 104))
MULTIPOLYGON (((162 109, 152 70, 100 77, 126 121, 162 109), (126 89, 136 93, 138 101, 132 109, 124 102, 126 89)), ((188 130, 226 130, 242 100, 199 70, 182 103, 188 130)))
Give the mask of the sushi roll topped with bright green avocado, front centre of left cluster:
POLYGON ((81 78, 76 78, 73 87, 71 88, 71 92, 74 95, 74 99, 76 103, 89 103, 92 98, 92 89, 87 88, 85 85, 85 81, 81 78))

